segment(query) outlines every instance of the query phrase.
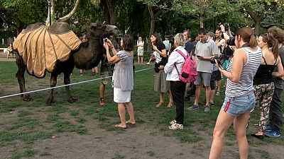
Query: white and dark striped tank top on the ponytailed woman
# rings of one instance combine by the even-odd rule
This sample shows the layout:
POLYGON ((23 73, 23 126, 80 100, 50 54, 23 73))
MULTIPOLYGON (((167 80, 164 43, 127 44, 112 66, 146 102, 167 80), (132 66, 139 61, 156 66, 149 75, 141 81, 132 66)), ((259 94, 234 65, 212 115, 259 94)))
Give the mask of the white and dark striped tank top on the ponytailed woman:
MULTIPOLYGON (((253 76, 256 74, 258 67, 261 65, 261 48, 257 47, 256 52, 247 49, 246 47, 241 48, 246 52, 248 60, 241 70, 241 78, 239 83, 234 83, 227 79, 226 95, 229 97, 239 97, 246 95, 253 90, 253 76)), ((229 61, 226 71, 232 72, 232 64, 234 58, 229 61)))

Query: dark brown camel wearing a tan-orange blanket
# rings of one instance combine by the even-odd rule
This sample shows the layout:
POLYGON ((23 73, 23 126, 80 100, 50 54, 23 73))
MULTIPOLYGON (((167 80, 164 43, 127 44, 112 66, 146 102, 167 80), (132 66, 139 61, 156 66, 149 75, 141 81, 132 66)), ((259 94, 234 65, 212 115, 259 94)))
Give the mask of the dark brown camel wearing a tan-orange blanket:
MULTIPOLYGON (((53 23, 53 25, 50 25, 49 27, 40 23, 28 25, 26 30, 23 30, 22 33, 21 37, 18 35, 13 45, 14 47, 16 46, 16 64, 18 66, 16 78, 18 79, 18 85, 21 93, 24 93, 26 92, 24 77, 26 70, 28 74, 37 78, 44 78, 46 71, 50 72, 50 88, 53 88, 56 86, 57 77, 60 73, 64 74, 64 83, 66 85, 70 84, 70 74, 75 66, 78 69, 92 69, 94 66, 97 66, 103 57, 103 52, 105 51, 102 45, 103 39, 105 37, 109 37, 109 35, 118 35, 119 29, 114 25, 90 23, 86 34, 87 42, 81 42, 79 38, 72 33, 69 25, 63 22, 53 23), (33 33, 35 30, 37 30, 36 33, 39 33, 40 35, 33 33), (43 33, 45 33, 46 36, 43 35, 43 33), (65 33, 68 33, 67 37, 65 33), (60 37, 61 35, 63 37, 65 36, 64 39, 62 39, 63 37, 60 37), (28 40, 23 40, 25 39, 25 36, 28 40), (60 40, 60 42, 62 41, 63 44, 61 42, 59 47, 56 48, 58 42, 53 40, 55 37, 51 38, 52 36, 55 36, 57 40, 60 40), (30 40, 32 37, 35 37, 36 46, 34 46, 34 42, 31 42, 32 40, 30 40), (51 41, 50 44, 46 42, 47 39, 51 41), (65 39, 67 39, 67 42, 70 42, 70 40, 73 39, 72 46, 68 46, 65 39), (60 50, 58 51, 58 49, 60 50), (52 50, 53 57, 47 55, 50 50, 52 50), (60 51, 64 54, 61 56, 61 59, 58 54, 60 51), (31 54, 31 52, 35 53, 31 54), (31 63, 29 63, 29 60, 31 63), (35 61, 43 63, 35 64, 35 61), (38 68, 42 68, 43 70, 40 70, 40 73, 37 73, 38 68)), ((69 86, 65 86, 65 92, 68 102, 72 103, 77 101, 77 99, 72 98, 70 95, 69 86)), ((23 94, 21 95, 21 98, 23 98, 24 101, 31 100, 31 96, 29 94, 23 94)), ((48 95, 47 105, 52 105, 54 102, 55 98, 53 96, 53 89, 51 89, 48 95)))

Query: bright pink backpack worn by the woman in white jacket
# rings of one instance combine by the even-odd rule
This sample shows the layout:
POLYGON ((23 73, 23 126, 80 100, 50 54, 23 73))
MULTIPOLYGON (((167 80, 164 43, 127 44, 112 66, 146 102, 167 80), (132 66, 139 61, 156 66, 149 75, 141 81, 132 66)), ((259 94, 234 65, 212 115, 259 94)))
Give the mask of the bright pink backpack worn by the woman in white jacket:
POLYGON ((190 54, 187 52, 187 57, 179 50, 176 50, 180 55, 182 55, 183 58, 185 58, 185 63, 182 65, 182 71, 181 73, 178 71, 177 66, 175 65, 175 69, 177 70, 179 74, 180 81, 184 83, 190 83, 196 80, 197 78, 197 69, 195 61, 193 61, 190 54))

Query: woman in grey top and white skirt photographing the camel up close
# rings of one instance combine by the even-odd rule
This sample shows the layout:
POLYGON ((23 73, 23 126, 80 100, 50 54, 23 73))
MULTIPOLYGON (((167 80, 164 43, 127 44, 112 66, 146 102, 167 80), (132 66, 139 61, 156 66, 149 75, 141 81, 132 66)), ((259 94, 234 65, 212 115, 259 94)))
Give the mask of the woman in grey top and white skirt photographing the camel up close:
POLYGON ((121 47, 123 50, 116 52, 114 45, 110 40, 104 42, 104 48, 107 49, 107 60, 114 66, 114 76, 112 77, 114 86, 114 102, 117 103, 119 110, 120 124, 116 127, 126 128, 126 124, 136 124, 134 119, 133 105, 131 103, 131 90, 133 90, 133 39, 130 35, 124 35, 121 39, 121 47), (114 53, 111 57, 109 54, 109 47, 114 53), (125 108, 129 112, 130 119, 125 119, 125 108))

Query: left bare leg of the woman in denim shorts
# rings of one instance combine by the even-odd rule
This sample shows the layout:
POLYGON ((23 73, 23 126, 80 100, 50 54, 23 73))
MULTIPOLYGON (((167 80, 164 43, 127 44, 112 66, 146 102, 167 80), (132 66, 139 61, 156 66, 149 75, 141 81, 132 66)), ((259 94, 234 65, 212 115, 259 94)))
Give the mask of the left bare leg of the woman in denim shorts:
POLYGON ((222 153, 224 136, 226 131, 229 129, 229 126, 234 121, 234 117, 231 117, 229 114, 226 114, 223 110, 220 110, 217 117, 216 125, 213 131, 213 141, 211 146, 211 151, 209 154, 209 159, 218 159, 222 153))

